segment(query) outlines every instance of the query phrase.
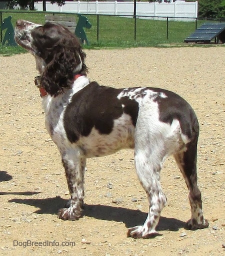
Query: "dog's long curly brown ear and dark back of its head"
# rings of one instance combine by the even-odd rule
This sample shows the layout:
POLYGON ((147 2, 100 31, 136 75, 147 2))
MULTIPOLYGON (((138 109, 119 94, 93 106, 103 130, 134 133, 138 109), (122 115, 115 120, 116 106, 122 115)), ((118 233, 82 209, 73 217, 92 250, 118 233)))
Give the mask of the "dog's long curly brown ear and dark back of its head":
POLYGON ((85 53, 78 39, 63 28, 63 33, 56 34, 56 42, 45 49, 44 60, 46 67, 41 74, 41 85, 51 96, 57 96, 65 88, 71 88, 74 75, 86 75, 84 63, 85 53))

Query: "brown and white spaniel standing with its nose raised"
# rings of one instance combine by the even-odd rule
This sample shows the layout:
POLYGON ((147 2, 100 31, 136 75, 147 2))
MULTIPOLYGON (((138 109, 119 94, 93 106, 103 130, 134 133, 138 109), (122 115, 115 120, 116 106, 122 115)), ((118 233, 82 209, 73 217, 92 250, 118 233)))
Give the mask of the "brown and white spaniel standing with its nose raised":
POLYGON ((70 201, 67 208, 59 209, 59 218, 75 220, 81 216, 87 158, 133 148, 149 211, 143 225, 128 228, 127 236, 157 234, 155 228, 166 203, 159 174, 168 155, 174 156, 189 191, 191 218, 187 228, 208 226, 197 187, 199 125, 184 99, 159 88, 114 89, 90 82, 79 40, 61 25, 18 20, 15 40, 35 57, 45 126, 65 169, 70 201))

